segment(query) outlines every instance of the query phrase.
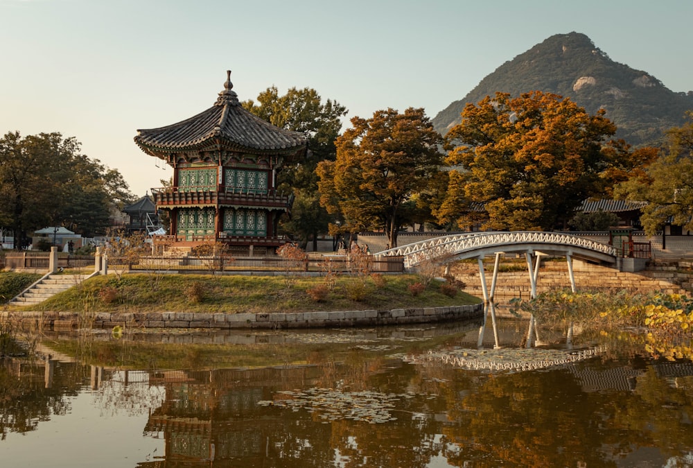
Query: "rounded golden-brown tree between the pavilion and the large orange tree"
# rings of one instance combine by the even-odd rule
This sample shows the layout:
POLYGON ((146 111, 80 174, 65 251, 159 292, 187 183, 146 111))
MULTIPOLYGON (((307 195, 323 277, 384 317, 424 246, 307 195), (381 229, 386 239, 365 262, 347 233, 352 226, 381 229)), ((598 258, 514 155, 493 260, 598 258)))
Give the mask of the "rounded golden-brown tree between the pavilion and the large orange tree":
POLYGON ((439 171, 442 138, 421 108, 378 110, 351 125, 337 138, 337 159, 317 166, 320 202, 350 232, 384 229, 396 247, 403 205, 439 171))

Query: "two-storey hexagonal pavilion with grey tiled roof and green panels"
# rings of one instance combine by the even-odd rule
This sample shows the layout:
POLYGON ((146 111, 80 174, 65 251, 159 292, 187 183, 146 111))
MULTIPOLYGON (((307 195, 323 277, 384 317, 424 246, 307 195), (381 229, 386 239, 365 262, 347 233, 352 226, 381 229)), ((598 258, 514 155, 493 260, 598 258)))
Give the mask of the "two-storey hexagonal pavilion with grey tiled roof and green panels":
POLYGON ((170 211, 173 241, 277 247, 283 244, 279 217, 292 203, 277 192, 277 171, 304 157, 307 137, 245 110, 233 87, 227 71, 212 107, 173 125, 137 130, 134 141, 173 167, 173 186, 152 189, 157 209, 170 211))

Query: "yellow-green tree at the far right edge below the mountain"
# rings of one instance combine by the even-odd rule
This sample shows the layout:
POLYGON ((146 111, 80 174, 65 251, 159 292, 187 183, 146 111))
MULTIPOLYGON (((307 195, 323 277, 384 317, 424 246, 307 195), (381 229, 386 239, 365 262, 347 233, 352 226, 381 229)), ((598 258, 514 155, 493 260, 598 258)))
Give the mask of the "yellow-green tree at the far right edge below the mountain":
POLYGON ((665 145, 644 173, 619 184, 616 196, 648 202, 640 223, 649 235, 672 224, 693 230, 693 113, 691 121, 667 132, 665 145))

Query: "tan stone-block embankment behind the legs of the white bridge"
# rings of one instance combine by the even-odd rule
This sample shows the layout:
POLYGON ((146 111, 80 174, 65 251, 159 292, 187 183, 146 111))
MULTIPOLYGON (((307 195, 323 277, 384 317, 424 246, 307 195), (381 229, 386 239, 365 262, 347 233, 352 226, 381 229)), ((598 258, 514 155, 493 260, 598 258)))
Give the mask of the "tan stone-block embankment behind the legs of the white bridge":
MULTIPOLYGON (((683 293, 690 295, 693 291, 692 261, 653 261, 646 270, 636 273, 620 272, 613 268, 594 265, 582 261, 573 262, 575 286, 577 290, 590 289, 626 289, 633 293, 683 293)), ((499 272, 495 287, 495 297, 529 298, 532 288, 529 284, 529 273, 526 263, 512 261, 501 262, 501 269, 519 269, 520 271, 499 272)), ((464 281, 464 291, 482 297, 479 267, 474 263, 457 263, 451 271, 455 278, 464 281)), ((493 263, 486 265, 484 271, 487 287, 491 286, 493 263)), ((568 263, 565 259, 545 261, 539 269, 536 285, 537 293, 556 289, 570 289, 568 263)))

